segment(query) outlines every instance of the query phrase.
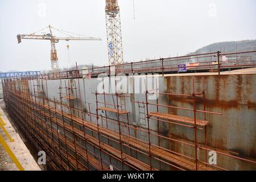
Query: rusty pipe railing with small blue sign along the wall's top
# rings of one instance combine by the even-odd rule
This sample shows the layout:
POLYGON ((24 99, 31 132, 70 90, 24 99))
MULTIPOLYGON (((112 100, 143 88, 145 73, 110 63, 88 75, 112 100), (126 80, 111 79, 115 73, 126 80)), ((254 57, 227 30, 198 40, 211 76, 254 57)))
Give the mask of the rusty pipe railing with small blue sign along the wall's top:
POLYGON ((101 74, 108 76, 114 74, 140 74, 151 73, 164 76, 167 73, 194 73, 194 72, 216 72, 221 75, 222 71, 233 69, 256 67, 256 56, 254 51, 246 52, 228 52, 222 53, 208 52, 196 55, 186 55, 177 57, 165 57, 146 61, 131 61, 118 65, 109 65, 104 67, 92 67, 86 69, 48 73, 42 75, 43 79, 77 78, 77 77, 97 77, 101 74), (180 69, 179 69, 180 68, 180 69))

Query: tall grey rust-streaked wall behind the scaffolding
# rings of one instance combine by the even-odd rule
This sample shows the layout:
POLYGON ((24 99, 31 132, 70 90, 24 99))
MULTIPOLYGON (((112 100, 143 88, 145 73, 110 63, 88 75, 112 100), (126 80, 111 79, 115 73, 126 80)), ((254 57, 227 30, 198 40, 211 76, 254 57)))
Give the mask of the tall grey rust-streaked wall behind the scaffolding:
MULTIPOLYGON (((137 78, 130 77, 127 78, 127 86, 130 89, 130 96, 126 97, 126 110, 129 113, 129 123, 130 125, 138 127, 147 127, 147 123, 140 119, 139 106, 135 101, 146 101, 144 92, 134 93, 138 86, 140 89, 143 88, 144 80, 150 77, 141 76, 139 77, 140 84, 135 84, 138 80, 137 78)), ((223 113, 223 115, 212 115, 212 114, 202 114, 197 113, 197 118, 209 121, 207 126, 207 146, 212 147, 213 150, 225 152, 226 154, 232 154, 235 156, 241 156, 243 158, 256 160, 256 75, 225 75, 225 76, 168 76, 168 77, 157 77, 159 81, 159 92, 162 93, 180 93, 189 94, 193 92, 192 83, 195 80, 196 92, 200 92, 205 88, 205 105, 207 111, 214 111, 218 113, 223 113)), ((109 78, 105 80, 105 86, 108 85, 107 82, 109 78)), ((47 80, 43 81, 44 96, 48 97, 49 100, 60 102, 60 89, 59 87, 68 86, 72 87, 71 93, 79 99, 73 101, 73 106, 84 111, 89 111, 96 113, 96 96, 97 87, 100 84, 101 79, 91 78, 91 79, 72 79, 72 80, 47 80), (80 88, 80 91, 79 91, 80 88), (90 107, 89 107, 90 105, 90 107)), ((113 81, 110 81, 110 83, 113 81)), ((36 83, 30 81, 30 92, 34 93, 34 86, 36 83)), ((40 84, 38 84, 40 85, 40 84)), ((40 87, 40 86, 39 86, 40 87)), ((35 87, 35 91, 38 87, 35 87)), ((41 88, 40 88, 41 89, 41 88)), ((61 89, 61 93, 65 93, 65 89, 61 89)), ((117 89, 117 92, 122 92, 121 89, 117 89)), ((66 96, 63 94, 63 96, 66 96)), ((117 99, 115 96, 106 96, 106 102, 108 104, 117 104, 117 99)), ((99 102, 104 102, 104 96, 98 96, 99 102)), ((156 103, 156 100, 150 100, 152 103, 156 103)), ((179 96, 159 96, 159 104, 171 105, 178 107, 193 107, 192 100, 189 97, 179 97, 179 96)), ((68 104, 67 100, 63 100, 63 104, 68 104)), ((120 99, 119 99, 119 105, 120 99)), ((99 104, 99 106, 104 106, 99 104)), ((113 106, 109 106, 113 107, 113 106)), ((204 109, 204 102, 201 98, 197 100, 197 109, 204 109)), ((149 106, 150 111, 156 111, 156 106, 149 106)), ((67 113, 69 110, 65 110, 67 113)), ((181 115, 184 117, 193 118, 193 113, 191 111, 177 110, 177 109, 167 109, 166 107, 159 107, 159 112, 170 113, 181 115)), ((73 113, 76 114, 76 113, 73 113)), ((114 113, 105 111, 100 111, 100 115, 105 114, 109 118, 117 119, 117 115, 114 113)), ((88 114, 84 115, 87 121, 90 121, 88 114)), ((124 122, 127 122, 126 118, 123 118, 124 122)), ((92 122, 96 123, 96 118, 92 118, 92 122)), ((177 126, 173 124, 159 122, 160 134, 165 137, 171 137, 174 139, 184 140, 185 142, 194 140, 194 130, 184 127, 177 126)), ((105 122, 101 122, 100 125, 106 127, 105 122)), ((108 123, 109 129, 118 131, 118 125, 108 123)), ((150 119, 150 129, 158 130, 158 125, 155 120, 150 119)), ((127 133, 126 129, 122 130, 122 133, 127 133)), ((147 135, 141 133, 140 131, 130 130, 133 137, 139 139, 148 140, 147 135)), ((204 144, 205 135, 204 131, 198 132, 198 140, 200 143, 204 144)), ((154 144, 158 143, 157 137, 151 137, 151 142, 154 144)), ((118 148, 117 144, 113 146, 118 148)), ((192 147, 186 146, 185 144, 170 142, 167 139, 160 138, 160 146, 170 148, 180 154, 188 155, 193 157, 195 150, 192 147)), ((97 152, 97 151, 96 151, 97 152)), ((198 151, 199 158, 204 160, 205 152, 198 151)), ((248 162, 242 162, 241 160, 235 160, 225 156, 217 155, 218 166, 227 169, 256 169, 255 164, 250 164, 248 162)), ((148 158, 138 154, 138 158, 148 162, 148 158)), ((106 156, 106 160, 108 157, 106 156)), ((155 167, 159 167, 158 163, 153 162, 155 167)), ((166 165, 162 164, 161 169, 169 169, 166 165)))

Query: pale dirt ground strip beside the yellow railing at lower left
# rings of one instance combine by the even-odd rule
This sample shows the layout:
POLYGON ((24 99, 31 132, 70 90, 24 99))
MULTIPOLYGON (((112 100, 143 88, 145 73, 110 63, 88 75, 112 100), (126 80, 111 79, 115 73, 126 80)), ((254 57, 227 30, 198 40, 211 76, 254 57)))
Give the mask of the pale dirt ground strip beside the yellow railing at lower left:
MULTIPOLYGON (((20 135, 18 133, 18 130, 15 128, 14 123, 11 122, 11 119, 5 110, 5 103, 3 102, 3 100, 0 100, 0 113, 2 114, 3 121, 6 123, 6 130, 10 134, 11 138, 13 138, 15 141, 10 142, 1 128, 0 134, 3 136, 3 138, 5 138, 6 143, 9 145, 22 167, 25 170, 29 171, 41 170, 33 156, 30 154, 30 151, 27 149, 23 140, 20 138, 20 135)), ((13 163, 13 160, 11 160, 7 152, 4 150, 2 144, 0 144, 0 171, 13 170, 18 170, 18 168, 13 163)))

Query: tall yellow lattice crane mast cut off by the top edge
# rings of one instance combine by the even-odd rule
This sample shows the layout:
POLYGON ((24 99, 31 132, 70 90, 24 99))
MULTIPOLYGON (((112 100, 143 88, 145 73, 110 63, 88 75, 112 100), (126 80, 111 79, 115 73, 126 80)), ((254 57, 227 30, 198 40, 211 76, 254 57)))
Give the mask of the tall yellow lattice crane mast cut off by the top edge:
POLYGON ((123 48, 121 18, 117 0, 106 0, 105 13, 109 65, 122 64, 123 48))

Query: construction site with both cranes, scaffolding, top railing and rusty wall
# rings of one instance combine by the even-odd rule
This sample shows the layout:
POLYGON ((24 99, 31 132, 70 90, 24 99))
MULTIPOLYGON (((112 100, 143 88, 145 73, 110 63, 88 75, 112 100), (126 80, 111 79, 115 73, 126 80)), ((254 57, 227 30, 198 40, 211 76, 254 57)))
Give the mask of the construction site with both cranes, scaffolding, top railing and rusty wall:
POLYGON ((49 34, 17 35, 51 42, 51 72, 10 73, 0 89, 2 115, 28 155, 46 152, 40 168, 255 171, 256 49, 126 63, 117 0, 106 0, 105 13, 108 66, 59 68, 59 40, 101 38, 55 36, 69 32, 51 25, 49 34))

